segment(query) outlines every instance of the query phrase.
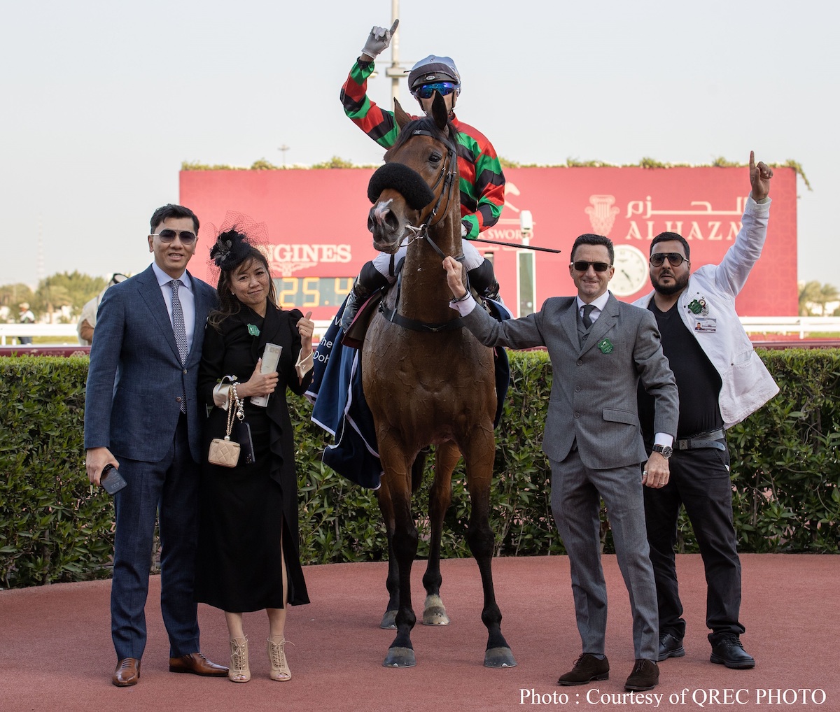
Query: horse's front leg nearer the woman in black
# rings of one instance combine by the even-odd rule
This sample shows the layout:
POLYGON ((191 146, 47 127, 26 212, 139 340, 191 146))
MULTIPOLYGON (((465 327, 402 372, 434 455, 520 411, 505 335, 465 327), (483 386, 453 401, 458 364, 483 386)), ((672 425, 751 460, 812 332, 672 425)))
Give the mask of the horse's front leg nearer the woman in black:
POLYGON ((414 667, 411 633, 417 621, 412 608, 412 563, 417 555, 417 526, 412 516, 412 490, 409 482, 409 470, 413 462, 405 458, 393 438, 383 432, 377 432, 379 453, 384 480, 394 514, 394 534, 392 537, 393 556, 399 573, 399 609, 396 611, 396 637, 388 649, 382 665, 385 667, 414 667))

